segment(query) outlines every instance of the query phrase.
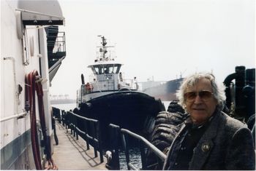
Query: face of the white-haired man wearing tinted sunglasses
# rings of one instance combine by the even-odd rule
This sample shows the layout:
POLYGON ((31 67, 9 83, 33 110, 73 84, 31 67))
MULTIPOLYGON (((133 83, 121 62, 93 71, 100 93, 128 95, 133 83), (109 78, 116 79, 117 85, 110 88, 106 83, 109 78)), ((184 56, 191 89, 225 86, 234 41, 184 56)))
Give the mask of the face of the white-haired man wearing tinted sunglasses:
POLYGON ((190 114, 192 122, 195 124, 202 124, 203 122, 206 122, 207 119, 214 114, 217 106, 217 100, 211 93, 211 81, 204 78, 200 79, 195 86, 188 87, 185 91, 184 98, 187 112, 190 114))

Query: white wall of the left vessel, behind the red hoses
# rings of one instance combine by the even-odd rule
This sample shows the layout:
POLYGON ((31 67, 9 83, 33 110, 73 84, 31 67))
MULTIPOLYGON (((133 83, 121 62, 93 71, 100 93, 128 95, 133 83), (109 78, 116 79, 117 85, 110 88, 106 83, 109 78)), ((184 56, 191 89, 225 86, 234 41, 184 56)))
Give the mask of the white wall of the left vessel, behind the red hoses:
MULTIPOLYGON (((45 32, 47 24, 43 24, 42 20, 46 23, 53 21, 48 25, 54 25, 57 20, 64 20, 58 1, 1 1, 1 150, 30 129, 29 112, 25 110, 25 76, 34 70, 37 70, 42 78, 47 133, 53 134, 45 32)), ((36 104, 39 119, 37 95, 36 104)), ((15 150, 17 147, 13 148, 15 150)), ((8 155, 4 158, 11 158, 12 151, 8 155)))

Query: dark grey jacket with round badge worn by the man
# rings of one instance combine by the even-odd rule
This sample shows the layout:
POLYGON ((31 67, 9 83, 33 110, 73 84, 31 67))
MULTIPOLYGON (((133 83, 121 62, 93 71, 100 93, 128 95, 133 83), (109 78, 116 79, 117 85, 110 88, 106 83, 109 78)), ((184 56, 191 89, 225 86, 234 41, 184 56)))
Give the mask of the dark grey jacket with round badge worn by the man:
MULTIPOLYGON (((167 154, 163 169, 170 169, 172 156, 178 152, 176 135, 167 154)), ((175 155, 174 155, 175 156, 175 155)), ((246 124, 219 112, 214 116, 206 132, 194 149, 189 170, 255 170, 255 149, 252 133, 246 124)))

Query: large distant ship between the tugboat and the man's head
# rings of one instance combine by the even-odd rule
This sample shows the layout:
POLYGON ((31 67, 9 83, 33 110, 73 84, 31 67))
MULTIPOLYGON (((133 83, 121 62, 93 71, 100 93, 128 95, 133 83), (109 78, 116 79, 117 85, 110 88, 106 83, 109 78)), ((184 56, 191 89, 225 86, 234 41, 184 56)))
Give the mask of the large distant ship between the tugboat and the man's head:
POLYGON ((180 87, 183 78, 173 79, 170 81, 146 81, 142 82, 143 92, 162 101, 176 100, 176 92, 180 87))

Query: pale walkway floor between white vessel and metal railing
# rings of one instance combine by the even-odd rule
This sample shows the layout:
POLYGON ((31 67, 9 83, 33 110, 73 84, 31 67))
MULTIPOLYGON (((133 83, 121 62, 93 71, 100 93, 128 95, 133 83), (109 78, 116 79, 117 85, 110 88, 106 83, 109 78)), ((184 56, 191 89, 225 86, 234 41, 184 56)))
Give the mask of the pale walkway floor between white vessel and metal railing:
POLYGON ((86 141, 74 137, 70 130, 56 122, 56 132, 59 145, 53 144, 53 161, 59 170, 108 170, 105 167, 106 159, 100 162, 99 154, 94 156, 94 148, 86 148, 86 141))

